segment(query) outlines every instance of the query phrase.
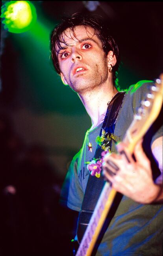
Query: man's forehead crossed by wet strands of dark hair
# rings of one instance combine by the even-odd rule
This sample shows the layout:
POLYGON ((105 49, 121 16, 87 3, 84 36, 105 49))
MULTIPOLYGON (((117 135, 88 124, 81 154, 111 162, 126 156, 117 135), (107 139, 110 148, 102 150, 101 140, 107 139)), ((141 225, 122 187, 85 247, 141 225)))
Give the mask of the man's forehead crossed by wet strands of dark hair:
MULTIPOLYGON (((94 39, 97 43, 100 42, 97 35, 94 32, 94 29, 87 26, 76 26, 74 27, 74 31, 71 28, 67 28, 62 33, 62 39, 69 45, 74 45, 78 41, 82 41, 82 39, 90 38, 94 39)), ((64 43, 60 43, 61 47, 64 47, 64 43)))

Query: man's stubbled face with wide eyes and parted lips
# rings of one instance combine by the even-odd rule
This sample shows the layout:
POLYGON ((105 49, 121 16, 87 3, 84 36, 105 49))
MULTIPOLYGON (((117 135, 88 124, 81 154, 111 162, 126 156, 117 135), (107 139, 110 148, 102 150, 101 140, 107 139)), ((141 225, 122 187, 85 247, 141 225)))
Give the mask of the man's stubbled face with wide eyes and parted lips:
POLYGON ((99 87, 108 78, 107 56, 102 43, 90 27, 76 26, 63 33, 67 44, 58 54, 61 77, 79 94, 99 87))

